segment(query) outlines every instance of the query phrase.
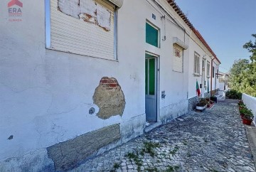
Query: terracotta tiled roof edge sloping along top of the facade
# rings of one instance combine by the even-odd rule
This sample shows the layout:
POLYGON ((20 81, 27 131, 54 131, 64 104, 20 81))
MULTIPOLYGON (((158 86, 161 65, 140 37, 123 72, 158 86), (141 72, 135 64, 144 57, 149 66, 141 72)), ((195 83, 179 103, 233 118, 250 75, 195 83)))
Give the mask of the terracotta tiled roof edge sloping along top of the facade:
POLYGON ((174 9, 174 11, 176 11, 176 13, 178 14, 178 16, 181 17, 181 19, 186 23, 186 25, 191 28, 191 30, 193 31, 193 33, 196 34, 196 36, 199 38, 199 40, 203 43, 203 45, 206 46, 206 48, 210 51, 210 53, 213 54, 213 56, 216 58, 216 60, 218 60, 218 62, 220 63, 220 60, 217 58, 217 56, 215 55, 215 53, 213 52, 213 50, 210 48, 210 46, 208 45, 208 43, 206 43, 205 39, 203 38, 203 36, 201 36, 201 34, 199 33, 199 31, 196 30, 196 28, 193 26, 193 24, 188 20, 188 18, 186 17, 185 14, 183 14, 183 12, 181 11, 181 9, 178 7, 178 5, 176 4, 176 2, 174 0, 166 0, 168 1, 168 3, 170 4, 170 6, 174 9))

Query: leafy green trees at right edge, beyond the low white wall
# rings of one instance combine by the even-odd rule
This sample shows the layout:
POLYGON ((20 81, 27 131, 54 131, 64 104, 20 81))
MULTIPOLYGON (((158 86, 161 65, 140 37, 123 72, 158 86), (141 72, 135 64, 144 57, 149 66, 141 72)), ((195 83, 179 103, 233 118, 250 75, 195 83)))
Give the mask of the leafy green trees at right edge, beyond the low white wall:
POLYGON ((252 55, 250 60, 236 60, 230 69, 230 87, 238 92, 256 97, 256 34, 252 34, 255 42, 249 41, 243 45, 252 55))

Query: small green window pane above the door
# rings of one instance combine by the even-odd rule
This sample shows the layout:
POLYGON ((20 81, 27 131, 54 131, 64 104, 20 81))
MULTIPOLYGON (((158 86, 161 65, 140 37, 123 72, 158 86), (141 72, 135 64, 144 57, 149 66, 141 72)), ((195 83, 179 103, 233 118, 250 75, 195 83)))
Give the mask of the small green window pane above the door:
POLYGON ((146 43, 159 47, 159 28, 146 23, 146 43))

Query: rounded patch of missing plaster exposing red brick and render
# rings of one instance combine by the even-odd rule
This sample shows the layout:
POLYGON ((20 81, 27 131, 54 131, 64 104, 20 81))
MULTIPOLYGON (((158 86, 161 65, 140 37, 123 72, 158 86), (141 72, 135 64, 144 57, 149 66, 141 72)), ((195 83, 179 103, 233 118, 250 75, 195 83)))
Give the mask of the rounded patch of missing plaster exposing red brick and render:
POLYGON ((93 103, 100 108, 97 113, 100 119, 122 116, 125 107, 124 93, 114 77, 102 77, 93 95, 93 103))

